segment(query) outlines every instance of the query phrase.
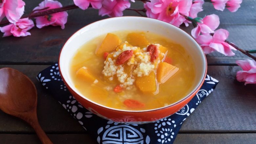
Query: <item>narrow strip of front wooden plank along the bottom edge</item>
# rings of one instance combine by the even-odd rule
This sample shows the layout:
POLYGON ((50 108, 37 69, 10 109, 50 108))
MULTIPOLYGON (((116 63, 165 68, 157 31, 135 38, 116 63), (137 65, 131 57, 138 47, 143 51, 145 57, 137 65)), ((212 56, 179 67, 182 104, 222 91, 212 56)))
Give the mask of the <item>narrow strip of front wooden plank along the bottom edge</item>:
MULTIPOLYGON (((88 134, 48 134, 54 144, 96 144, 88 134)), ((35 134, 0 134, 1 144, 40 144, 35 134)), ((256 134, 178 134, 174 144, 252 144, 256 134)))

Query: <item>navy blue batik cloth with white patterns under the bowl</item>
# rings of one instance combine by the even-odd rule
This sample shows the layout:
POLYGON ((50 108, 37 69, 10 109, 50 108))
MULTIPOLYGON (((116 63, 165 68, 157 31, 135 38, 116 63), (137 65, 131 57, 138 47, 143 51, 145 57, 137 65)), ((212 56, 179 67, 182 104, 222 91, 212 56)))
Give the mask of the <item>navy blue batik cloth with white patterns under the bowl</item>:
POLYGON ((37 79, 53 97, 91 134, 100 144, 163 144, 173 143, 183 121, 196 109, 218 84, 218 80, 207 75, 202 88, 177 113, 148 124, 120 124, 103 119, 85 109, 63 83, 58 64, 54 64, 37 75, 37 79))

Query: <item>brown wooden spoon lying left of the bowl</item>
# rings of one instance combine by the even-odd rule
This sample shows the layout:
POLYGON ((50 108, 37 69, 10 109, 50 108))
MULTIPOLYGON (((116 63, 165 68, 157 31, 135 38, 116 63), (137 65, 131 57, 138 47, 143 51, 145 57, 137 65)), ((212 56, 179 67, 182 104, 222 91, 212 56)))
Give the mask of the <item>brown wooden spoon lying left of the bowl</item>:
POLYGON ((38 123, 37 92, 33 82, 23 73, 0 69, 0 109, 28 122, 43 144, 52 144, 38 123))

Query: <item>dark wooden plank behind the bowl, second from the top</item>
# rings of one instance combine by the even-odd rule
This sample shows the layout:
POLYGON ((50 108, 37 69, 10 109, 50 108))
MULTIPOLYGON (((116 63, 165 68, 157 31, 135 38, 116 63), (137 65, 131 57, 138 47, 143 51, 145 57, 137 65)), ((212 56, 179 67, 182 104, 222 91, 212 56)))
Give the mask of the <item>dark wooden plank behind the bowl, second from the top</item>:
MULTIPOLYGON (((181 28, 187 33, 190 33, 192 26, 181 28)), ((240 48, 245 50, 256 49, 256 25, 221 25, 220 28, 228 30, 230 33, 228 40, 240 48)), ((33 29, 31 32, 34 36, 3 38, 4 41, 0 41, 0 64, 52 64, 53 62, 57 62, 58 54, 63 44, 78 29, 79 27, 73 27, 71 25, 66 26, 65 30, 49 26, 42 28, 42 30, 33 29), (44 33, 40 31, 44 31, 44 33), (40 35, 36 35, 38 33, 40 35)), ((237 59, 249 58, 239 51, 234 52, 236 55, 231 57, 219 52, 208 54, 208 64, 235 64, 237 59)))

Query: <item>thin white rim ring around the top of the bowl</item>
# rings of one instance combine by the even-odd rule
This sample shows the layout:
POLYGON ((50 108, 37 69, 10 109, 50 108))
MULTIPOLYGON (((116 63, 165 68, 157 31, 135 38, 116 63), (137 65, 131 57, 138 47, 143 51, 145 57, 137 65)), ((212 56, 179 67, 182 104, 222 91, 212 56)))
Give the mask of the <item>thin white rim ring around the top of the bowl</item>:
MULTIPOLYGON (((96 22, 92 22, 92 23, 90 23, 90 24, 88 24, 88 25, 82 27, 81 29, 77 30, 74 34, 72 34, 72 35, 69 37, 69 39, 65 42, 65 44, 63 45, 63 47, 61 48, 61 50, 60 50, 60 52, 59 52, 58 66, 59 66, 60 75, 61 75, 61 77, 62 77, 64 83, 67 83, 67 82, 66 82, 66 80, 65 80, 65 78, 64 78, 64 76, 62 75, 62 72, 61 72, 60 57, 61 57, 61 52, 62 52, 63 48, 66 46, 66 43, 68 43, 68 42, 70 41, 70 39, 71 39, 73 36, 75 36, 77 33, 79 33, 79 31, 82 31, 82 29, 84 29, 84 28, 86 28, 86 27, 88 27, 88 26, 94 25, 95 23, 99 23, 99 22, 102 22, 102 21, 108 21, 108 20, 112 20, 112 19, 122 19, 122 18, 126 18, 126 17, 132 17, 132 18, 138 18, 138 19, 139 19, 139 18, 141 18, 141 19, 150 19, 150 20, 153 20, 153 21, 158 21, 158 22, 160 22, 161 24, 166 24, 166 23, 167 23, 167 22, 164 22, 164 21, 161 21, 161 20, 158 20, 158 19, 148 18, 148 17, 140 17, 140 16, 120 16, 120 17, 110 17, 110 18, 98 20, 98 21, 96 21, 96 22)), ((202 49, 202 47, 199 45, 199 43, 198 43, 192 36, 190 36, 187 32, 185 32, 185 31, 182 30, 181 28, 179 28, 179 27, 177 27, 177 26, 174 26, 174 25, 172 25, 172 24, 170 24, 170 23, 167 23, 167 24, 169 24, 170 27, 173 27, 174 29, 178 29, 180 32, 182 32, 182 33, 184 33, 185 35, 187 35, 187 38, 189 38, 189 39, 191 39, 192 41, 194 41, 194 42, 196 43, 196 45, 197 45, 197 46, 202 50, 202 52, 203 52, 203 49, 202 49)), ((75 92, 76 94, 78 94, 80 97, 84 98, 84 99, 87 100, 88 102, 91 102, 91 103, 93 103, 93 104, 95 104, 95 105, 97 105, 97 106, 103 107, 103 108, 105 108, 105 109, 110 109, 110 110, 119 111, 119 112, 128 112, 128 113, 151 112, 151 111, 166 109, 166 108, 168 108, 168 107, 170 107, 170 106, 176 105, 176 104, 182 102, 183 100, 189 98, 192 94, 194 94, 195 92, 197 92, 197 91, 200 90, 200 88, 201 88, 202 85, 203 85, 204 79, 205 79, 205 77, 206 77, 206 72, 207 72, 207 60, 206 60, 206 56, 205 56, 204 52, 203 52, 203 57, 204 57, 204 59, 205 59, 205 61, 203 61, 203 63, 205 64, 205 65, 203 65, 203 70, 205 70, 205 72, 204 72, 204 75, 201 76, 200 82, 194 87, 194 89, 191 90, 190 93, 188 93, 186 96, 184 96, 184 97, 183 97, 182 99, 180 99, 179 101, 177 101, 177 102, 175 102, 175 103, 172 103, 172 104, 169 104, 169 105, 164 106, 164 107, 156 108, 156 109, 132 111, 132 110, 121 110, 121 109, 115 109, 115 108, 107 107, 107 106, 98 104, 98 103, 96 103, 96 102, 90 100, 90 99, 87 98, 86 96, 80 94, 80 93, 78 92, 78 90, 73 89, 72 87, 70 87, 68 83, 67 83, 67 84, 68 84, 68 86, 72 89, 72 91, 74 91, 74 92, 75 92)), ((69 72, 68 72, 68 73, 69 73, 69 72)))

